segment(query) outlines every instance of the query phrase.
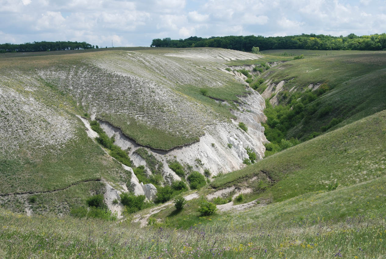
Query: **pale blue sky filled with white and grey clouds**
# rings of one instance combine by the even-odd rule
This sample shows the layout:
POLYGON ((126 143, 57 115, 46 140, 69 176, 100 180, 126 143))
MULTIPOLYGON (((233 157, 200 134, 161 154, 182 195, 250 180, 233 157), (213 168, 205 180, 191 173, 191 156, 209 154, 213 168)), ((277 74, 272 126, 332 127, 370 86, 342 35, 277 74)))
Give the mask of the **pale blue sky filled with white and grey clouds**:
POLYGON ((0 0, 0 43, 386 32, 386 0, 0 0))

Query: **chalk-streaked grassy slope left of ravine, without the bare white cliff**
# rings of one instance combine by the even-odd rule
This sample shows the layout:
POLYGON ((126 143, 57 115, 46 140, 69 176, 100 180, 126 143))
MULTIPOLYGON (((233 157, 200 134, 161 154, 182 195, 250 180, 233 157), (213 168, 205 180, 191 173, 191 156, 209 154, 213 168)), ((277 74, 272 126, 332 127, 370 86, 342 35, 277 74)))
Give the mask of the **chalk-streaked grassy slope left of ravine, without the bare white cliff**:
POLYGON ((190 144, 208 125, 233 118, 215 99, 237 110, 233 101, 246 91, 221 70, 224 63, 252 58, 259 56, 144 47, 0 55, 0 181, 7 183, 0 205, 68 213, 105 191, 102 178, 125 185, 130 172, 88 137, 76 115, 110 122, 142 146, 190 144))

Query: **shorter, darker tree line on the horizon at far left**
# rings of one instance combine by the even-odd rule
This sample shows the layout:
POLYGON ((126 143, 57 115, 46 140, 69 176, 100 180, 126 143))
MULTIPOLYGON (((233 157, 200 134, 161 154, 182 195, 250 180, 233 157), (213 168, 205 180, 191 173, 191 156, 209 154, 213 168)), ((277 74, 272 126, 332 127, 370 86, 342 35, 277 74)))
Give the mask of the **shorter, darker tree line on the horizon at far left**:
POLYGON ((5 52, 36 52, 36 51, 56 51, 56 50, 75 50, 75 49, 93 49, 93 46, 87 42, 77 41, 40 41, 27 42, 23 44, 0 44, 0 53, 5 52))

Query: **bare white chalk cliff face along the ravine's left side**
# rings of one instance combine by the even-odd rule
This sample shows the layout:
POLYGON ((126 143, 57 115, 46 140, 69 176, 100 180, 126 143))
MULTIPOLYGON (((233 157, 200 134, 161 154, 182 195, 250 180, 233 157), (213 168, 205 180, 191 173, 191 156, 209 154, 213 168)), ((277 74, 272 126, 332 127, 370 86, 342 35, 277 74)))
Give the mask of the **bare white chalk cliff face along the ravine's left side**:
MULTIPOLYGON (((208 126, 200 141, 165 152, 146 148, 164 164, 164 176, 169 175, 170 179, 179 179, 179 176, 167 166, 168 160, 176 159, 181 164, 189 164, 201 173, 209 169, 212 175, 216 175, 242 168, 244 166, 242 161, 249 158, 246 147, 250 147, 256 152, 257 158, 262 159, 265 151, 264 143, 267 141, 264 136, 264 127, 261 126, 261 122, 266 120, 262 112, 265 108, 264 99, 259 93, 251 90, 240 100, 243 102, 240 104, 240 111, 234 112, 237 120, 208 126), (247 125, 247 132, 238 127, 239 122, 247 125)), ((107 122, 100 121, 100 125, 109 137, 114 137, 115 144, 124 150, 129 150, 129 156, 136 166, 146 166, 146 161, 135 153, 139 145, 122 134, 120 129, 107 122)))

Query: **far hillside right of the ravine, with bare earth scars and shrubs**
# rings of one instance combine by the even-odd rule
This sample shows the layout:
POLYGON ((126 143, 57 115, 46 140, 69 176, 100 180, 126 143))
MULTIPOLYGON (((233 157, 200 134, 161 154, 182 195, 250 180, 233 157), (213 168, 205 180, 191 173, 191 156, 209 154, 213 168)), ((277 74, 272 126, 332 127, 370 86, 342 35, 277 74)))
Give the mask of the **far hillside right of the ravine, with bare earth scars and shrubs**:
MULTIPOLYGON (((278 58, 306 55, 268 69, 252 82, 265 81, 256 90, 267 101, 267 139, 278 146, 281 139, 305 141, 386 107, 384 51, 267 53, 278 58)), ((271 145, 266 154, 278 146, 271 145)))

